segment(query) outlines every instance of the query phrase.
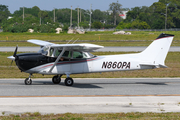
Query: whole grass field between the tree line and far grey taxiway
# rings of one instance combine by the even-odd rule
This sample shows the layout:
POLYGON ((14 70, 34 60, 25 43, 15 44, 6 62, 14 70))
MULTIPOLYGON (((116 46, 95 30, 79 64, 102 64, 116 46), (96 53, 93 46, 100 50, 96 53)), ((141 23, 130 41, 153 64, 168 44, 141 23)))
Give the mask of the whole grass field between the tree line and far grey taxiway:
MULTIPOLYGON (((53 33, 0 33, 0 46, 35 46, 27 43, 29 39, 48 40, 55 43, 67 43, 73 39, 76 43, 88 42, 103 46, 148 46, 164 31, 132 31, 132 35, 113 35, 113 31, 87 32, 87 34, 53 34, 53 33), (85 41, 84 41, 85 40, 85 41), (14 41, 14 42, 13 42, 14 41)), ((179 31, 166 31, 174 34, 172 46, 180 46, 179 31)), ((72 41, 72 42, 73 42, 72 41)))

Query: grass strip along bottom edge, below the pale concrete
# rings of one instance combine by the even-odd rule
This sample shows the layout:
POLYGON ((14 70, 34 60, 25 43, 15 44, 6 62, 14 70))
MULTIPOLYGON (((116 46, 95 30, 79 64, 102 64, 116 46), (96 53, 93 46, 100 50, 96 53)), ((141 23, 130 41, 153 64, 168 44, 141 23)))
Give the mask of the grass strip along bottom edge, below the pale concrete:
MULTIPOLYGON (((162 111, 163 112, 163 111, 162 111)), ((97 114, 45 114, 23 113, 19 115, 0 116, 2 120, 179 120, 180 113, 97 113, 97 114)))

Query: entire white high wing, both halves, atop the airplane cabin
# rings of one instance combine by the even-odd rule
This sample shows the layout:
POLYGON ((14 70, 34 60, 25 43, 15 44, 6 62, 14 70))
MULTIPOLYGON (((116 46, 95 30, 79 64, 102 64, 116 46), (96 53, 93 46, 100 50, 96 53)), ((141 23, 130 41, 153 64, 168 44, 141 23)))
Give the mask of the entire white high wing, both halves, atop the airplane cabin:
POLYGON ((81 44, 54 44, 42 40, 28 40, 27 42, 40 45, 40 46, 46 46, 50 45, 51 48, 66 48, 66 50, 78 50, 78 51, 85 51, 85 52, 90 52, 93 50, 97 50, 100 48, 104 48, 104 46, 100 45, 95 45, 95 44, 89 44, 89 43, 81 43, 81 44))

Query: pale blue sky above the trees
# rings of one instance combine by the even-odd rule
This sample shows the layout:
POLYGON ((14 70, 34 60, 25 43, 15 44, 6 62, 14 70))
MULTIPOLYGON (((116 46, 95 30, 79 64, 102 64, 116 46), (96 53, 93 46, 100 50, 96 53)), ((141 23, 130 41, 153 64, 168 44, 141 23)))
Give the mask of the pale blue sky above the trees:
MULTIPOLYGON (((122 5, 122 8, 134 8, 141 6, 151 6, 154 2, 159 0, 118 0, 122 5)), ((0 4, 7 5, 11 13, 19 10, 20 7, 32 8, 33 6, 38 6, 41 10, 51 11, 54 8, 72 8, 77 7, 82 9, 90 9, 92 4, 92 9, 100 9, 105 11, 109 9, 109 4, 112 2, 117 2, 117 0, 0 0, 0 4)))

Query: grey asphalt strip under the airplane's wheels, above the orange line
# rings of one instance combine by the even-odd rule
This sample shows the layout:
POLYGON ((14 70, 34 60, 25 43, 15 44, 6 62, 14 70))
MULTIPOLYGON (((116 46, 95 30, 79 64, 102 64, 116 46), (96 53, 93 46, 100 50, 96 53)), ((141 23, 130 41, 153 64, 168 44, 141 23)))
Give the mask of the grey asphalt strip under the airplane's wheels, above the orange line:
POLYGON ((74 78, 70 87, 61 81, 56 85, 51 78, 32 78, 32 85, 25 85, 24 79, 1 79, 0 96, 180 94, 180 78, 74 78))

